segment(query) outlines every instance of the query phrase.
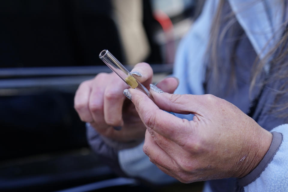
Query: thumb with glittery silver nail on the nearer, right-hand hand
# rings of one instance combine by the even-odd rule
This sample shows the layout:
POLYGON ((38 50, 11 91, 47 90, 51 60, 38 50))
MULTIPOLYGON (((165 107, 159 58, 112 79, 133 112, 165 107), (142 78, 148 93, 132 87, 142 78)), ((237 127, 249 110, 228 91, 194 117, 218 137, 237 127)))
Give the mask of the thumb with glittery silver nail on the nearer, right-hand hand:
POLYGON ((150 93, 155 104, 162 110, 181 113, 203 115, 206 109, 206 95, 179 95, 163 92, 153 84, 150 84, 150 93))

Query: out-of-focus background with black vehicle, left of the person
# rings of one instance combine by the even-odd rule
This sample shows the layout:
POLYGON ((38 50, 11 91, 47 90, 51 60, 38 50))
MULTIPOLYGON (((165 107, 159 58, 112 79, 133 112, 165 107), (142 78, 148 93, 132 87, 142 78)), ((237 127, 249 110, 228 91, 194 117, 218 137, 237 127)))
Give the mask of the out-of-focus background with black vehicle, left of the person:
POLYGON ((155 186, 119 178, 90 151, 73 109, 78 85, 110 69, 172 73, 179 40, 204 1, 0 1, 0 191, 201 191, 202 183, 155 186), (191 188, 192 187, 192 188, 191 188))

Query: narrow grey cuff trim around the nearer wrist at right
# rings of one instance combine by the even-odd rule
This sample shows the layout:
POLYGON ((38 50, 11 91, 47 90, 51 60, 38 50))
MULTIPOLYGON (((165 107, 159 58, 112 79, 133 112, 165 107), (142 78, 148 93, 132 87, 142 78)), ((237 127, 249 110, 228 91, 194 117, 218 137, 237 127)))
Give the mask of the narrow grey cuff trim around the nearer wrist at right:
POLYGON ((252 170, 248 175, 238 179, 238 187, 244 187, 252 183, 253 181, 255 181, 261 175, 261 173, 265 170, 268 164, 273 160, 274 155, 277 153, 282 143, 283 136, 281 133, 278 133, 275 131, 272 132, 272 135, 273 135, 273 139, 272 139, 271 145, 267 153, 263 157, 262 161, 260 161, 258 166, 254 170, 252 170))

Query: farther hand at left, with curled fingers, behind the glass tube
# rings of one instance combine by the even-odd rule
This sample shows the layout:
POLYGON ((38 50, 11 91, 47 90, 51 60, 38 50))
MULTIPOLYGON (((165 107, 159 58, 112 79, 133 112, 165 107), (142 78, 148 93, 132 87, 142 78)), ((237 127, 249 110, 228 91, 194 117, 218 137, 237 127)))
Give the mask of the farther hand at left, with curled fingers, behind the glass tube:
MULTIPOLYGON (((136 77, 149 87, 153 70, 147 63, 135 65, 142 77, 136 77)), ((173 93, 178 86, 175 78, 167 78, 158 84, 167 92, 173 93), (172 84, 172 86, 167 86, 172 84)), ((94 79, 79 85, 74 98, 74 108, 84 122, 89 122, 99 134, 120 142, 143 140, 143 125, 134 105, 127 101, 123 89, 128 85, 116 73, 100 73, 94 79), (121 131, 113 127, 122 127, 121 131)))

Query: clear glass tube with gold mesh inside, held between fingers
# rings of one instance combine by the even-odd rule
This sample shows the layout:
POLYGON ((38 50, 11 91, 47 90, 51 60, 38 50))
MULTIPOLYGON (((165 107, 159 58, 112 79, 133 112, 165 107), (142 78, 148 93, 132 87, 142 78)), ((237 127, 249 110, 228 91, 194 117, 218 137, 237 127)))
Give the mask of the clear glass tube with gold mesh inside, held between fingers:
POLYGON ((123 81, 131 88, 136 88, 145 93, 152 101, 154 101, 151 93, 142 85, 137 78, 137 75, 131 74, 107 49, 104 49, 99 54, 99 58, 107 64, 123 81))

